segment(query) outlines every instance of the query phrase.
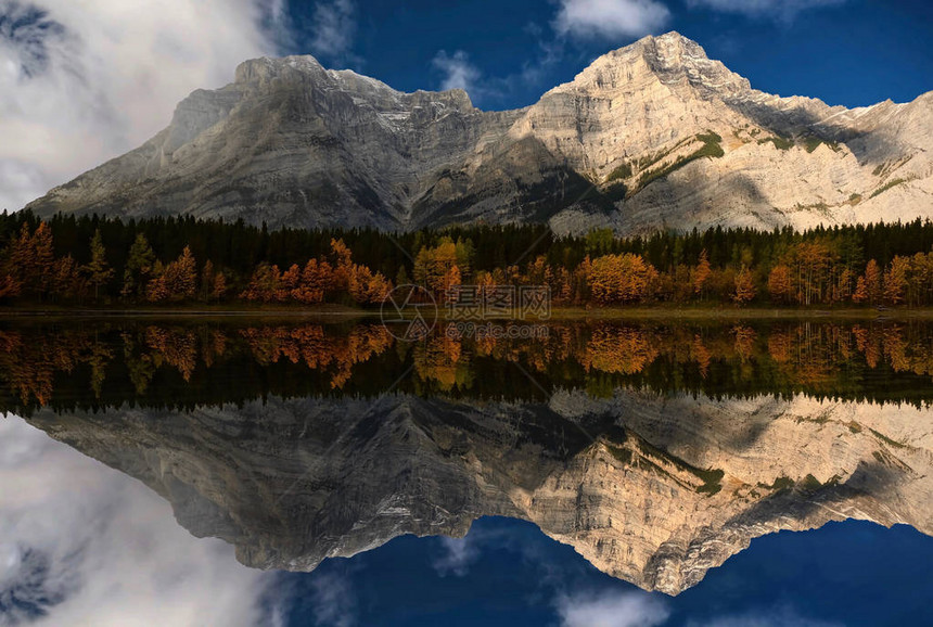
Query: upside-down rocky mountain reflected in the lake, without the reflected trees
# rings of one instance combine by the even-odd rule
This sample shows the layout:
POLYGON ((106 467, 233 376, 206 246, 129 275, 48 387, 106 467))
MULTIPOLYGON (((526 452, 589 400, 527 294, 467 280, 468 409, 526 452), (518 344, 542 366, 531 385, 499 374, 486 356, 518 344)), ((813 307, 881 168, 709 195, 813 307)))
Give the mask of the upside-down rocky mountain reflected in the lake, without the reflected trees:
POLYGON ((311 571, 405 534, 523 519, 601 571, 676 594, 782 529, 933 534, 931 410, 616 389, 547 402, 268 397, 27 420, 169 500, 248 566, 311 571))

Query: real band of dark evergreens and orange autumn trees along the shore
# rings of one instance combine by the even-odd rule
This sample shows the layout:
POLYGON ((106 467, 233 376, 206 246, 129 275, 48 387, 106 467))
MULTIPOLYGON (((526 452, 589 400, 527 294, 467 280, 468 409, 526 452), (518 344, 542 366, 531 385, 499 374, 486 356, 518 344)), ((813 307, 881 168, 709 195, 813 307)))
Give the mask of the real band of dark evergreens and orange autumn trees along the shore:
POLYGON ((933 222, 560 238, 547 226, 386 233, 242 220, 0 215, 0 306, 372 306, 419 284, 547 285, 557 306, 933 305, 933 222))

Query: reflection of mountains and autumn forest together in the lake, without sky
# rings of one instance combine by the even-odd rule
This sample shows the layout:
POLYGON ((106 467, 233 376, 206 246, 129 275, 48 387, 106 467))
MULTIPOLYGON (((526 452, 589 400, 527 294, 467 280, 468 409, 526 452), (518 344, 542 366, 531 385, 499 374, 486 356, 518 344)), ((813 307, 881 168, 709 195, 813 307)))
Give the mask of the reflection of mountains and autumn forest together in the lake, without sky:
POLYGON ((373 323, 0 329, 0 404, 139 478, 197 537, 310 571, 531 521, 677 594, 758 536, 933 534, 933 327, 550 325, 417 344, 373 323))

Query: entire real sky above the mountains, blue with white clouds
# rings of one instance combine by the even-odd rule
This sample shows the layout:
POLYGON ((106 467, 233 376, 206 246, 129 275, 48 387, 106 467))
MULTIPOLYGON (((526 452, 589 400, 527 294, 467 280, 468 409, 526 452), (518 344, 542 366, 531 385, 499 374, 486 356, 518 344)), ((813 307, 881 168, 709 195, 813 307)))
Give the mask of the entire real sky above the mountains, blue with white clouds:
POLYGON ((0 209, 138 146, 246 59, 310 53, 501 110, 668 30, 781 95, 933 89, 929 0, 0 0, 0 209))

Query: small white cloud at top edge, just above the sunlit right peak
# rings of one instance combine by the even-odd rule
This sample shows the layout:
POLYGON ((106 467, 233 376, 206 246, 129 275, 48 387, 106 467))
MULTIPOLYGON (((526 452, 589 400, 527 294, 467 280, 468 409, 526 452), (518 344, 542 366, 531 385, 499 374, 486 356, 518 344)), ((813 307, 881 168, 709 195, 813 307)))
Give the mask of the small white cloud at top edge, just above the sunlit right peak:
POLYGON ((561 0, 553 27, 562 36, 614 39, 655 33, 669 18, 655 0, 561 0))

